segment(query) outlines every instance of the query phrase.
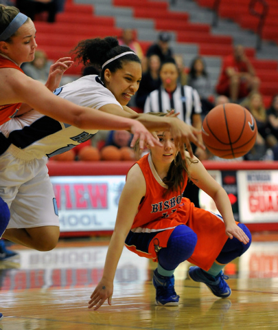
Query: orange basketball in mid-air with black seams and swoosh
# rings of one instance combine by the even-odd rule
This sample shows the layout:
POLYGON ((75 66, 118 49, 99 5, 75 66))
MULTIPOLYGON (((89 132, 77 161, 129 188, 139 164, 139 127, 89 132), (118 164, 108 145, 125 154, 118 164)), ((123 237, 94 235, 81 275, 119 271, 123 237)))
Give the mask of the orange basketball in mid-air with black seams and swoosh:
POLYGON ((254 146, 257 124, 250 111, 234 103, 219 104, 202 122, 202 140, 211 153, 231 159, 245 155, 254 146))

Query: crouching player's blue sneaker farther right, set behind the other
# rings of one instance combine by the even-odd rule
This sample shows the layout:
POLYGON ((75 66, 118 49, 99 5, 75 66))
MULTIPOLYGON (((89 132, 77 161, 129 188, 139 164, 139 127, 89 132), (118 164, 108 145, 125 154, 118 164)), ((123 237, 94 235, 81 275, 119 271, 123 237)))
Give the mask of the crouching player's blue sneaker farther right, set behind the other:
POLYGON ((189 277, 195 282, 202 282, 211 289, 214 296, 220 298, 227 298, 231 296, 231 289, 224 280, 229 277, 224 275, 221 271, 218 276, 212 276, 203 271, 200 267, 193 266, 189 267, 189 277))

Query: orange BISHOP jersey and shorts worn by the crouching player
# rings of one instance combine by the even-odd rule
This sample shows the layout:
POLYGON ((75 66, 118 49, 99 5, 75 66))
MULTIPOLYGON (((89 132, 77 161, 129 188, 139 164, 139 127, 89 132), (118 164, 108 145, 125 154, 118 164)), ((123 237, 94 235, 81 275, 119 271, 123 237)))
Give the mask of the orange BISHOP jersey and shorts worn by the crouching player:
MULTIPOLYGON (((146 196, 138 208, 126 248, 157 262, 157 252, 167 247, 174 228, 187 225, 197 234, 195 250, 187 260, 203 270, 209 270, 228 239, 222 217, 196 208, 189 199, 175 192, 161 197, 166 188, 157 175, 150 155, 142 157, 137 164, 146 180, 146 196)), ((186 184, 187 177, 183 190, 186 184)))

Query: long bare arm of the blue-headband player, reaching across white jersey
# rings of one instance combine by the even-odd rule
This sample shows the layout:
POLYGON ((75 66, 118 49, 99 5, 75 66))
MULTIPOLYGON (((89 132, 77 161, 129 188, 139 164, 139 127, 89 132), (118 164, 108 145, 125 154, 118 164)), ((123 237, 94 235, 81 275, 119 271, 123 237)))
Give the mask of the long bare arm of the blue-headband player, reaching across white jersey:
POLYGON ((3 79, 0 80, 0 104, 23 102, 44 115, 80 129, 130 130, 135 138, 139 138, 141 148, 145 142, 160 145, 152 133, 137 120, 80 107, 52 94, 42 83, 27 77, 19 70, 1 69, 1 74, 3 79))

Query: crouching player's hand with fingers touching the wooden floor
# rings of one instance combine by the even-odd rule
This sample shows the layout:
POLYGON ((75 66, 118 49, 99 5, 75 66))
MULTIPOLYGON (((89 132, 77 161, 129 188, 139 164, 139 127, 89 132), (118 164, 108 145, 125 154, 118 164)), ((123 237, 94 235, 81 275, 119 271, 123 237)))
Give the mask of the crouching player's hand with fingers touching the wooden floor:
POLYGON ((95 311, 102 306, 106 299, 108 300, 108 304, 112 305, 112 294, 113 284, 110 285, 106 281, 101 280, 95 288, 93 294, 91 294, 91 300, 89 300, 88 308, 93 308, 95 311))

